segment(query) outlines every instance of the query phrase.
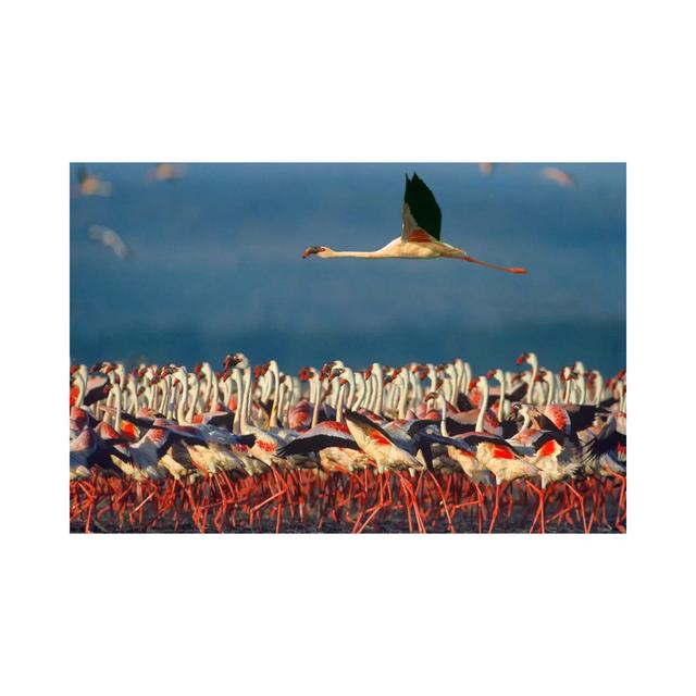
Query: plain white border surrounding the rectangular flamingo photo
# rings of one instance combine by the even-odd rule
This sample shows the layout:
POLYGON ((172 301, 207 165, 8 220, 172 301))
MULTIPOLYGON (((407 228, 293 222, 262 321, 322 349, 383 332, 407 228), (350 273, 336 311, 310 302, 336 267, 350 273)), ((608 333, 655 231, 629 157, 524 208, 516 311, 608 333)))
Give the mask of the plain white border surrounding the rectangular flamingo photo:
POLYGON ((251 5, 4 11, 4 693, 693 688, 687 3, 251 5), (629 534, 71 537, 67 163, 99 160, 627 161, 629 534))

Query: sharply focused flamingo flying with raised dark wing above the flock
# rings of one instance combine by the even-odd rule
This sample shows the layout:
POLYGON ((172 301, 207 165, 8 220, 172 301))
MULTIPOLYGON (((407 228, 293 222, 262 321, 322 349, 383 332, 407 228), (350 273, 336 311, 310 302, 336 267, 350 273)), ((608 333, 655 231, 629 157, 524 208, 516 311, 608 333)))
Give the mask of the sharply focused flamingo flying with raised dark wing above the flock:
POLYGON ((524 269, 509 269, 507 266, 486 263, 470 257, 463 249, 451 247, 440 241, 440 226, 443 214, 433 196, 433 191, 424 184, 418 174, 413 177, 406 175, 406 190, 403 191, 403 208, 401 209, 401 236, 389 241, 386 247, 376 251, 334 251, 328 247, 309 247, 302 258, 316 254, 322 259, 340 257, 357 257, 361 259, 459 259, 480 265, 506 271, 508 273, 526 273, 524 269))

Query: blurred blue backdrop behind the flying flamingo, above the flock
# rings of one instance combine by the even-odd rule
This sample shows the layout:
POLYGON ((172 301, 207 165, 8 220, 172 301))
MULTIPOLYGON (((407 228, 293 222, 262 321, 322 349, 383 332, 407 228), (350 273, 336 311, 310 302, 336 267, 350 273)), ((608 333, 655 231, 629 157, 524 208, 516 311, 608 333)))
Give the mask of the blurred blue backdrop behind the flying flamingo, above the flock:
MULTIPOLYGON (((71 358, 219 365, 225 353, 285 371, 340 358, 511 369, 535 350, 558 369, 625 364, 625 165, 86 163, 109 197, 71 194, 71 358), (515 276, 452 260, 303 260, 311 245, 371 250, 399 236, 403 175, 425 181, 443 240, 515 276), (120 259, 90 239, 116 231, 120 259)), ((71 191, 78 165, 71 165, 71 191)))

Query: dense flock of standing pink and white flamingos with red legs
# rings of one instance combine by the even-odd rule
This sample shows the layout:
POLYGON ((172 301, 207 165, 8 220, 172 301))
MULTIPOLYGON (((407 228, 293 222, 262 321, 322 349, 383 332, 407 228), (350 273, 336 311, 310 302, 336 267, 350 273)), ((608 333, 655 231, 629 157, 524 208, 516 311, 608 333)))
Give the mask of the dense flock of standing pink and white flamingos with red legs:
POLYGON ((625 370, 71 365, 73 531, 625 531, 625 370))

